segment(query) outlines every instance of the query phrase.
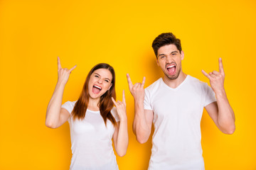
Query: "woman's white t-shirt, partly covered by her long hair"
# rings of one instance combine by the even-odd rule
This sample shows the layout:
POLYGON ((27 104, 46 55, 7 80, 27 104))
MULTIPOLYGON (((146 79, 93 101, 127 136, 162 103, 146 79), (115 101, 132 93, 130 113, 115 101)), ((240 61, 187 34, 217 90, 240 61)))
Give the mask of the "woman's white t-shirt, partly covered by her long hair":
MULTIPOLYGON (((68 101, 61 107, 72 113, 76 101, 68 101)), ((119 121, 116 108, 111 111, 119 121)), ((112 147, 114 125, 107 120, 107 127, 100 111, 87 109, 83 120, 68 118, 70 124, 72 159, 70 170, 118 170, 112 147)))

